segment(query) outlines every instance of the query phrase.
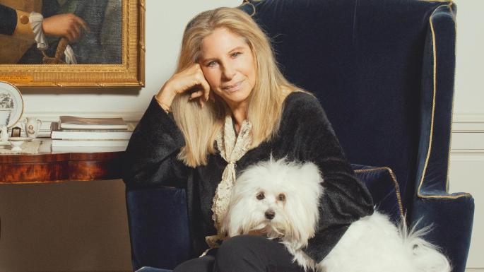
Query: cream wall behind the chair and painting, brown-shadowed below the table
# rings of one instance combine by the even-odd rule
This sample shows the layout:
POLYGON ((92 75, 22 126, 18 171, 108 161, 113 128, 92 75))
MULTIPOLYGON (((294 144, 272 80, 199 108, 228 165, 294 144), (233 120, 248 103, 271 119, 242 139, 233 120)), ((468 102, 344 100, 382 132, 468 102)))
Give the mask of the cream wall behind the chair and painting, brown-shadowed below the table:
MULTIPOLYGON (((484 268, 484 63, 482 0, 459 6, 451 191, 476 198, 468 267, 484 268)), ((146 0, 146 88, 22 90, 24 116, 122 114, 138 119, 170 77, 184 25, 199 11, 242 0, 146 0)), ((129 271, 129 235, 121 181, 0 186, 0 271, 129 271)))

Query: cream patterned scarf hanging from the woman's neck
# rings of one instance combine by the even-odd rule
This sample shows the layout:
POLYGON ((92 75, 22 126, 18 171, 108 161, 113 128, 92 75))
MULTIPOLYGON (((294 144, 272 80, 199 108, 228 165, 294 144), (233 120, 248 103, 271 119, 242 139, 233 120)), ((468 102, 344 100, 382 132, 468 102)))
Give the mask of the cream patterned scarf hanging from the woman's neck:
POLYGON ((230 202, 230 192, 235 184, 235 166, 237 160, 242 158, 249 150, 252 143, 252 124, 247 120, 242 122, 239 135, 235 135, 232 117, 225 117, 223 129, 216 137, 217 148, 220 150, 222 158, 228 162, 223 170, 222 181, 218 184, 213 197, 212 219, 217 229, 217 235, 207 236, 206 242, 209 247, 218 247, 219 240, 223 240, 225 233, 220 233, 220 226, 223 218, 227 214, 228 204, 230 202))

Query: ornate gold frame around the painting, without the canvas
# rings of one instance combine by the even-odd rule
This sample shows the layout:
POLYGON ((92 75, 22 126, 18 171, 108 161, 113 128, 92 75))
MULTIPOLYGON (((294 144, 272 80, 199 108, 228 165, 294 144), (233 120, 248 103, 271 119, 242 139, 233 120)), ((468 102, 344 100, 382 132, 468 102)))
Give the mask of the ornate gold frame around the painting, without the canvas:
POLYGON ((121 5, 120 64, 0 64, 0 81, 20 88, 144 87, 145 0, 121 5))

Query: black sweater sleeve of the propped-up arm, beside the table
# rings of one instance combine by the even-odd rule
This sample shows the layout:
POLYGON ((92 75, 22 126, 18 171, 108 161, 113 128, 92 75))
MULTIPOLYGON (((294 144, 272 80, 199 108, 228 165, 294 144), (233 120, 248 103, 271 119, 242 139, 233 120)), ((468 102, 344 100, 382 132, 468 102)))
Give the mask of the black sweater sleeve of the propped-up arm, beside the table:
POLYGON ((182 131, 153 98, 129 139, 122 163, 126 187, 186 187, 192 168, 177 160, 182 131))

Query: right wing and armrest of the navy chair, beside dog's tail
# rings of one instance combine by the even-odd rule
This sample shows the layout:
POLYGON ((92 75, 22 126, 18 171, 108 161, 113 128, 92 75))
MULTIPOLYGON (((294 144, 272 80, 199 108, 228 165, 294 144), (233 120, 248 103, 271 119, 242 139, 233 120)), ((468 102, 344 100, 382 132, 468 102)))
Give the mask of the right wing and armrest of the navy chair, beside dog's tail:
POLYGON ((429 18, 421 86, 420 146, 408 223, 432 225, 426 238, 449 256, 454 272, 463 272, 471 241, 474 200, 449 194, 449 148, 455 71, 455 14, 452 2, 429 18))

